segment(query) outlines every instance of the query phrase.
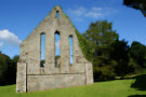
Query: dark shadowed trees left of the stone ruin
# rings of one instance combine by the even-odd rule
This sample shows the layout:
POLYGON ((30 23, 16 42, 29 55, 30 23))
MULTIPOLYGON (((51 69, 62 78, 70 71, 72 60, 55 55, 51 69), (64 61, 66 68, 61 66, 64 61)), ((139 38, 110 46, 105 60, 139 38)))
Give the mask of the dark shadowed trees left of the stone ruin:
POLYGON ((16 83, 16 64, 18 56, 11 59, 8 55, 0 52, 0 85, 16 83))

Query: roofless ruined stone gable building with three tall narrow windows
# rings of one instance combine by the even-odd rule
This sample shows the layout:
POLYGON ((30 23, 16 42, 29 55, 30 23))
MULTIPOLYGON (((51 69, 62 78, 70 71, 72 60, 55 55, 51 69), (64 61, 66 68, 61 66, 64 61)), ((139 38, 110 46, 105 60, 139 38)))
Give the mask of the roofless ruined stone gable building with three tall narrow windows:
POLYGON ((57 5, 21 44, 16 92, 34 92, 93 83, 92 64, 79 46, 75 27, 57 5), (55 33, 61 37, 61 55, 55 57, 55 33), (45 54, 41 63, 41 36, 45 36, 45 54), (70 64, 69 37, 72 38, 70 64))

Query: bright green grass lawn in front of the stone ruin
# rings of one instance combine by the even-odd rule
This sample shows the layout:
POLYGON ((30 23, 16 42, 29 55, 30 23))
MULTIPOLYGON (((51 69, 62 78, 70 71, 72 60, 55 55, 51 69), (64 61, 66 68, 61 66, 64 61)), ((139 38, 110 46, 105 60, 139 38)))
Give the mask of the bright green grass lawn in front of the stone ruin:
POLYGON ((116 80, 34 93, 15 93, 15 85, 8 85, 0 86, 0 97, 146 97, 146 91, 131 87, 134 82, 135 80, 116 80))

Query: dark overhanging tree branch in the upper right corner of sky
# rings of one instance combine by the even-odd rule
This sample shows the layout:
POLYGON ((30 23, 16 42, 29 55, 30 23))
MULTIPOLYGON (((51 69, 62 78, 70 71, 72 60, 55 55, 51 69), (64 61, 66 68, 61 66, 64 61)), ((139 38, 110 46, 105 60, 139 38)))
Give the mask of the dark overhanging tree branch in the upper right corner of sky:
POLYGON ((146 0, 123 0, 123 4, 136 10, 141 10, 146 17, 146 0))

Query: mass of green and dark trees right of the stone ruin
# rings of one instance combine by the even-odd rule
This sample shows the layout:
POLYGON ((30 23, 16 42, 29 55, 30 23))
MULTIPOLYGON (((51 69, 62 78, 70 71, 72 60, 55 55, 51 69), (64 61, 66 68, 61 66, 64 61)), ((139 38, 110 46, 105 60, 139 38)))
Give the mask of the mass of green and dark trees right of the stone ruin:
POLYGON ((91 23, 82 36, 90 44, 87 58, 93 64, 94 80, 110 80, 146 68, 146 46, 136 41, 129 45, 128 41, 119 40, 111 23, 91 23))

